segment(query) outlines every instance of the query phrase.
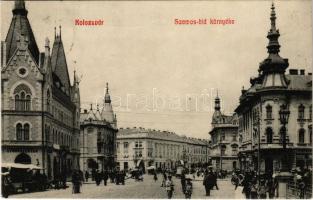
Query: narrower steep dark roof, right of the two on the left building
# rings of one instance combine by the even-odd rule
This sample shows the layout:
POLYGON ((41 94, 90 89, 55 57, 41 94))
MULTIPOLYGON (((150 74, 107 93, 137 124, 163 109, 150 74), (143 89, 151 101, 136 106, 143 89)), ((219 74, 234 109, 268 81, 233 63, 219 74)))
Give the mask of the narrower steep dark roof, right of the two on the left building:
POLYGON ((51 53, 51 66, 53 73, 60 79, 62 85, 65 87, 67 93, 70 91, 70 78, 66 63, 66 56, 64 52, 61 34, 56 35, 52 53, 51 53))

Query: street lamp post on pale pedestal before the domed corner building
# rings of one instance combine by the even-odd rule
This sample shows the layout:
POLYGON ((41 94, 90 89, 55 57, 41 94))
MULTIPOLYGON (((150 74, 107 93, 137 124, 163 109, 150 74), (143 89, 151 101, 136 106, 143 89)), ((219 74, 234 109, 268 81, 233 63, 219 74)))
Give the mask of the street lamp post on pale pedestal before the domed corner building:
POLYGON ((283 104, 280 106, 279 111, 279 120, 280 123, 283 125, 282 127, 282 145, 283 145, 283 158, 281 160, 281 169, 279 174, 276 176, 278 181, 278 197, 279 198, 287 198, 287 184, 291 178, 291 173, 288 171, 288 153, 286 151, 286 135, 287 129, 286 125, 288 123, 290 111, 288 110, 287 105, 283 104))

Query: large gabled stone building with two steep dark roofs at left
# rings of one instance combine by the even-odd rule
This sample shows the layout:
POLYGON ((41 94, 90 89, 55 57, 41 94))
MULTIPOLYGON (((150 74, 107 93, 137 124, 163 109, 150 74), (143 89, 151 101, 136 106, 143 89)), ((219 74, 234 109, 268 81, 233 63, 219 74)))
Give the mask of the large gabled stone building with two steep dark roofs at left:
POLYGON ((79 80, 70 83, 60 33, 39 52, 24 1, 1 43, 2 162, 35 164, 48 178, 79 168, 79 80))

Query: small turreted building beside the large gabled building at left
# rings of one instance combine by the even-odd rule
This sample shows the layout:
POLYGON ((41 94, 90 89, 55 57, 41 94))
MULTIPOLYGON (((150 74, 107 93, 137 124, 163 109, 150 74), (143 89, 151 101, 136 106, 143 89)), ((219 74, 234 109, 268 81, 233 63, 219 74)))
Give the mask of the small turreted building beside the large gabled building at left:
POLYGON ((107 84, 103 105, 84 110, 80 122, 80 166, 83 171, 105 170, 115 167, 117 133, 107 84))

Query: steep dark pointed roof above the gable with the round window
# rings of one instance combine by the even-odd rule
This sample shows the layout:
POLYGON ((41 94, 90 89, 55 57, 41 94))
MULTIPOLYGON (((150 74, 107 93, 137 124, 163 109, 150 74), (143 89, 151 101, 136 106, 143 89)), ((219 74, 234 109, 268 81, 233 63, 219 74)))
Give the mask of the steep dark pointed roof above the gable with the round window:
POLYGON ((38 64, 39 49, 27 18, 28 11, 25 8, 25 2, 15 1, 12 13, 13 18, 10 24, 8 34, 5 38, 7 61, 9 61, 9 59, 13 56, 13 53, 17 49, 17 38, 23 35, 27 37, 28 49, 38 64))

